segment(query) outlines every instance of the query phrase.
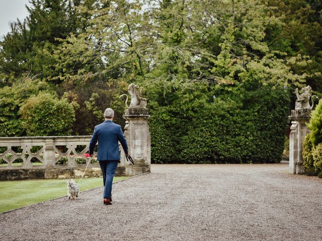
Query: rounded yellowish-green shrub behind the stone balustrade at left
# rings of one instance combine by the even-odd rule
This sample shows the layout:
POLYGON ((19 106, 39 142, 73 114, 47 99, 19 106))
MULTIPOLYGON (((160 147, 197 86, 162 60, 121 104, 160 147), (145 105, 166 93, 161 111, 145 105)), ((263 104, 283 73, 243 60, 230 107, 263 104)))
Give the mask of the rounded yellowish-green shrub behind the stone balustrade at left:
POLYGON ((67 99, 45 92, 27 99, 20 112, 28 136, 70 135, 75 120, 73 106, 67 99))

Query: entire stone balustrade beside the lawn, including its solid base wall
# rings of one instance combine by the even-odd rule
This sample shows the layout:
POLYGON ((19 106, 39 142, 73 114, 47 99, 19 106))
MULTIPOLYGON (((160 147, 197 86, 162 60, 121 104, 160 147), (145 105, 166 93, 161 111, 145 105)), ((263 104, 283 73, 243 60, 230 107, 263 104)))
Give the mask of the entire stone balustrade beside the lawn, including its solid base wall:
MULTIPOLYGON (((74 178, 75 170, 84 170, 89 158, 91 136, 1 137, 0 180, 26 178, 74 178), (66 175, 67 173, 67 175, 66 175)), ((88 169, 99 169, 95 158, 88 169)), ((121 160, 117 175, 125 175, 121 160)))

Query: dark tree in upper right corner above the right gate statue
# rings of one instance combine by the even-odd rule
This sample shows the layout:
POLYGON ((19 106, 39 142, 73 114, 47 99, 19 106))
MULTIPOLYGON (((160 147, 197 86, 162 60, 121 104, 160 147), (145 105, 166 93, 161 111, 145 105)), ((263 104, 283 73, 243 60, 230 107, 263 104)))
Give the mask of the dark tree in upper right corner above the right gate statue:
MULTIPOLYGON (((282 22, 278 29, 269 29, 266 40, 274 50, 286 53, 285 58, 294 58, 288 66, 294 74, 305 74, 306 83, 313 90, 322 92, 320 69, 322 67, 322 25, 319 1, 269 1, 270 14, 282 22), (314 3, 313 3, 314 2, 314 3), (311 5, 309 5, 309 4, 311 5), (309 58, 306 64, 299 64, 302 58, 309 58)), ((293 101, 294 102, 294 101, 293 101)))

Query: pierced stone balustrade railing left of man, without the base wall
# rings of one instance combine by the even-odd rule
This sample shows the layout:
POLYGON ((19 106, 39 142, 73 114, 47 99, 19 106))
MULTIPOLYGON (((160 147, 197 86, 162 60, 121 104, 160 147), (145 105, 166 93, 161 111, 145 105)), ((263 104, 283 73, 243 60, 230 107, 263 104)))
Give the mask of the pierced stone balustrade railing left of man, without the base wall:
MULTIPOLYGON (((82 168, 89 160, 90 140, 91 136, 1 137, 0 169, 82 168)), ((95 157, 96 152, 89 167, 99 167, 95 157)))

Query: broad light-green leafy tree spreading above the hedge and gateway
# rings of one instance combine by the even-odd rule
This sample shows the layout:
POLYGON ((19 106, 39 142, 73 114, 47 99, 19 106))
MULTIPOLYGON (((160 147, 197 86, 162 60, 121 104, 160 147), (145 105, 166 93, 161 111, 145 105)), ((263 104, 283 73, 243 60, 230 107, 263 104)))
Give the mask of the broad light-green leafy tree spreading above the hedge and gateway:
POLYGON ((282 26, 268 10, 254 0, 216 5, 108 1, 83 10, 94 18, 86 32, 63 41, 55 54, 56 71, 60 79, 76 83, 96 76, 125 77, 170 88, 194 81, 234 85, 249 77, 282 85, 304 82, 306 75, 292 74, 289 66, 300 58, 287 61, 286 53, 268 46, 267 31, 282 26))

